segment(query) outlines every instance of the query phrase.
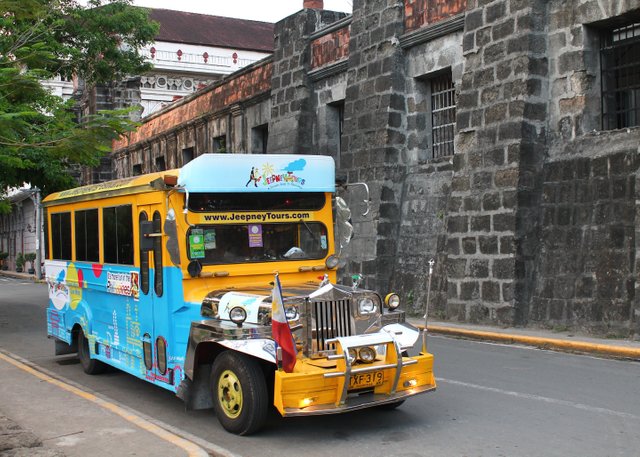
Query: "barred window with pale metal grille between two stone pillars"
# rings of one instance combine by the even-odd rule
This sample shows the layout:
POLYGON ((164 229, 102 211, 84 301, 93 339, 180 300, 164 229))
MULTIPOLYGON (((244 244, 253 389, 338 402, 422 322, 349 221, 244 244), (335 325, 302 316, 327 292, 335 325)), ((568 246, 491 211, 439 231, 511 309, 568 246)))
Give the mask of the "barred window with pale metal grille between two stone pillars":
POLYGON ((451 73, 447 73, 431 79, 431 137, 434 158, 453 154, 455 126, 455 88, 451 73))

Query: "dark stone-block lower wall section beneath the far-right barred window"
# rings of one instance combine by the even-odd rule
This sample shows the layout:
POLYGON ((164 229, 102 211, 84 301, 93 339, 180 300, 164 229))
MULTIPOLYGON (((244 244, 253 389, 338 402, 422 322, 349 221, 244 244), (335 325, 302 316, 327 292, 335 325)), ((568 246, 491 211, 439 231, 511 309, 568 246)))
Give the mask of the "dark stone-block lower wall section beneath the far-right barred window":
POLYGON ((637 149, 545 164, 531 322, 633 329, 637 169, 637 149))

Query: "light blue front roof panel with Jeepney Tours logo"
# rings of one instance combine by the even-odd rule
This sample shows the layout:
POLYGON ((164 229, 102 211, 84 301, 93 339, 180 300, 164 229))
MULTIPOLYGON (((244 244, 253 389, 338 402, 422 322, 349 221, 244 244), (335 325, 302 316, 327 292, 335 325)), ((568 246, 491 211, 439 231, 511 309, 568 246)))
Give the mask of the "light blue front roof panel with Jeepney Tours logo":
POLYGON ((335 192, 333 158, 294 154, 203 154, 180 169, 188 192, 335 192))

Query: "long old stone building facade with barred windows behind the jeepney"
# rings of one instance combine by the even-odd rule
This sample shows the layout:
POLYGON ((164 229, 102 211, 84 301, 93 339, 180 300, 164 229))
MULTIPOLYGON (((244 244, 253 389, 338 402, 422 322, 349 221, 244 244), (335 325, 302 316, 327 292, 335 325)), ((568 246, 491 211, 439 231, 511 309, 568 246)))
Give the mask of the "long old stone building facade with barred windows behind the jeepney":
POLYGON ((416 313, 433 258, 437 318, 640 331, 637 0, 305 4, 273 56, 117 142, 116 175, 331 155, 371 191, 345 272, 416 313))

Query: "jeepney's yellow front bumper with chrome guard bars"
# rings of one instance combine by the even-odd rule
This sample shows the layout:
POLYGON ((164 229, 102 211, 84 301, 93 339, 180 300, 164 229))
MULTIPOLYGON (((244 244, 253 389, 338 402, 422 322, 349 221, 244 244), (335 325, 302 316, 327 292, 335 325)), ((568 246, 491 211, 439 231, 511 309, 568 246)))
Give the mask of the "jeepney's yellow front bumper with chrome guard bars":
POLYGON ((277 371, 274 404, 283 416, 336 414, 395 403, 436 389, 433 355, 421 353, 403 357, 398 344, 385 332, 373 335, 336 338, 335 361, 322 368, 307 360, 298 360, 293 373, 277 371), (350 348, 386 345, 385 354, 371 364, 351 365, 346 356, 350 348), (376 386, 349 390, 351 376, 382 372, 376 386))

